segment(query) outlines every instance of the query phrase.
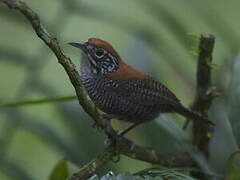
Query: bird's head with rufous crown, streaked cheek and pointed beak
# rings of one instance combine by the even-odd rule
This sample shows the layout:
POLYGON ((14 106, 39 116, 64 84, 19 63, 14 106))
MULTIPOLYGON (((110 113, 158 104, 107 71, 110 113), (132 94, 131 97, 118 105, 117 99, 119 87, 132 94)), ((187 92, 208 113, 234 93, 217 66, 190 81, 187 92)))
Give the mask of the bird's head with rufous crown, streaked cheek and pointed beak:
POLYGON ((68 44, 82 50, 96 74, 107 75, 116 72, 119 68, 120 56, 106 41, 90 38, 84 43, 69 42, 68 44))

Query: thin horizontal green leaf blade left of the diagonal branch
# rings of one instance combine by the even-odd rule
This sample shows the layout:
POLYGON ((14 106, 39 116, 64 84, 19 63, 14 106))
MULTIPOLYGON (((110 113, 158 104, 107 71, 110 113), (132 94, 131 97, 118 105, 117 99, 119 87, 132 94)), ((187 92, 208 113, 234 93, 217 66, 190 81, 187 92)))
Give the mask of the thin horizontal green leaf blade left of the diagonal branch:
POLYGON ((0 106, 5 106, 5 107, 28 106, 28 105, 38 105, 38 104, 44 104, 44 103, 72 101, 74 99, 76 99, 76 96, 64 96, 64 97, 56 97, 56 98, 48 98, 48 99, 3 103, 3 104, 0 104, 0 106))

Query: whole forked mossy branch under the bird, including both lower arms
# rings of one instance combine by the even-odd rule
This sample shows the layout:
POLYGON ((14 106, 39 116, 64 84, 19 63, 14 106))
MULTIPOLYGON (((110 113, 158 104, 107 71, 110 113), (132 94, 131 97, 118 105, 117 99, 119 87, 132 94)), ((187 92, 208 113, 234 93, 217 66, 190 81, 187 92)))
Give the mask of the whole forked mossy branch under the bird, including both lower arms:
POLYGON ((50 35, 50 33, 48 33, 48 31, 41 24, 38 15, 31 8, 29 8, 26 3, 20 0, 0 0, 0 2, 8 5, 9 8, 19 11, 28 19, 38 37, 42 39, 51 49, 51 51, 57 57, 58 62, 63 66, 68 74, 68 77, 75 88, 79 104, 83 107, 86 113, 88 113, 92 119, 96 121, 97 125, 104 130, 110 139, 116 140, 117 149, 109 150, 107 148, 97 158, 82 167, 80 171, 73 176, 73 178, 84 179, 91 176, 105 163, 111 161, 116 153, 121 153, 131 158, 143 160, 153 164, 164 165, 167 167, 185 165, 190 166, 193 164, 193 160, 188 153, 160 153, 153 149, 138 146, 125 137, 117 137, 116 132, 113 129, 111 129, 111 131, 104 129, 104 120, 100 118, 94 104, 88 99, 75 65, 72 63, 71 59, 63 53, 57 39, 50 35))

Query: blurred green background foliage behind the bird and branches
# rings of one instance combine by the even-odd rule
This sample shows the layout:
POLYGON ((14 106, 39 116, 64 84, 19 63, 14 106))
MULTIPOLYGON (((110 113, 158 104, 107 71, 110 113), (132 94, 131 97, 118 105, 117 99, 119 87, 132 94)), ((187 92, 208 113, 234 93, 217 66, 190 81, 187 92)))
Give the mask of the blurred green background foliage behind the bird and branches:
MULTIPOLYGON (((194 98, 198 37, 216 36, 213 83, 221 92, 210 111, 217 124, 204 161, 224 174, 240 144, 240 2, 237 0, 41 0, 26 1, 78 66, 80 51, 66 44, 98 37, 131 65, 167 85, 189 106, 194 98)), ((75 95, 53 53, 26 19, 0 4, 0 179, 47 179, 61 159, 81 166, 104 148, 104 135, 76 100, 4 107, 5 103, 75 95)), ((164 115, 128 133, 160 151, 184 150, 191 132, 184 119, 164 115)), ((121 129, 126 124, 114 122, 121 129)), ((121 157, 101 173, 131 173, 151 164, 121 157)))

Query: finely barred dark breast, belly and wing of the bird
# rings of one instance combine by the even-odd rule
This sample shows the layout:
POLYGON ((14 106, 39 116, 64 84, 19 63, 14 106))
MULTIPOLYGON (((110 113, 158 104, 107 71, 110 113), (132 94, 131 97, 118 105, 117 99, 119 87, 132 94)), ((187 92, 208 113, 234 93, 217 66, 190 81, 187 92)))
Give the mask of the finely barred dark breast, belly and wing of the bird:
POLYGON ((121 120, 148 121, 161 112, 173 112, 173 107, 180 105, 174 94, 148 76, 145 79, 113 80, 94 74, 83 62, 81 78, 95 105, 121 120))

